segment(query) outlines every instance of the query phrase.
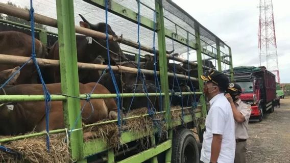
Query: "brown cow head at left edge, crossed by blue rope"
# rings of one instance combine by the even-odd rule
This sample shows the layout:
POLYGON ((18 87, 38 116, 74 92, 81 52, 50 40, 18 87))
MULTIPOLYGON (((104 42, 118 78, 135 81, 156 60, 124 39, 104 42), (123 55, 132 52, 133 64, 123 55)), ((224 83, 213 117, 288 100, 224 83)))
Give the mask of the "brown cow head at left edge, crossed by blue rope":
MULTIPOLYGON (((17 70, 19 70, 20 67, 17 66, 13 69, 7 69, 7 70, 3 70, 0 72, 0 84, 4 84, 6 82, 6 80, 11 77, 11 75, 13 75, 14 73, 16 73, 17 70)), ((20 75, 20 71, 18 71, 7 83, 8 85, 14 85, 17 78, 20 75)))

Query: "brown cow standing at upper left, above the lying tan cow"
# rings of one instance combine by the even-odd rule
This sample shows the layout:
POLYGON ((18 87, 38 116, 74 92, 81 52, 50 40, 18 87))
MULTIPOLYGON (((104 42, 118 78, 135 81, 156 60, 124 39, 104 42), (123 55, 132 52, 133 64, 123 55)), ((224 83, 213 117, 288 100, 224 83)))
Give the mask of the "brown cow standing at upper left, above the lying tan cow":
MULTIPOLYGON (((37 58, 47 56, 46 47, 35 39, 35 52, 37 58)), ((0 32, 0 53, 22 57, 31 57, 32 37, 21 32, 6 31, 0 32)), ((0 71, 12 69, 15 65, 1 64, 0 71)), ((38 74, 34 65, 26 65, 22 68, 21 74, 14 82, 15 84, 38 83, 38 74)))

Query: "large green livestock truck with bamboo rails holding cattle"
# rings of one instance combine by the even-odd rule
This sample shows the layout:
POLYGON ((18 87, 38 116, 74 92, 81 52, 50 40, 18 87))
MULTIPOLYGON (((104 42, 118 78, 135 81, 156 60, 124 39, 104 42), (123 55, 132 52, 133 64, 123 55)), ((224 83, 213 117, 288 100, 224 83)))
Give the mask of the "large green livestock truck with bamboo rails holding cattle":
MULTIPOLYGON (((206 103, 202 92, 203 82, 197 76, 188 77, 184 76, 184 74, 180 75, 168 72, 167 60, 171 59, 185 65, 198 66, 198 76, 200 76, 208 69, 208 67, 202 66, 203 59, 210 58, 217 61, 216 66, 219 71, 222 71, 222 64, 232 68, 230 47, 169 0, 142 2, 135 0, 59 0, 57 1, 57 6, 53 6, 55 4, 53 0, 46 2, 38 3, 35 6, 35 12, 37 13, 43 9, 41 13, 45 15, 44 9, 50 8, 49 12, 46 13, 46 16, 49 17, 43 17, 43 15, 38 14, 35 17, 35 22, 58 28, 58 33, 56 34, 56 31, 35 28, 35 37, 46 44, 47 47, 50 47, 58 39, 60 42, 60 56, 62 57, 60 57, 59 63, 55 62, 55 60, 38 59, 38 61, 40 61, 39 65, 41 67, 59 67, 59 64, 61 65, 62 91, 61 94, 52 95, 51 100, 52 103, 56 100, 63 102, 65 127, 37 133, 27 132, 16 137, 1 135, 0 162, 16 162, 18 160, 15 159, 18 158, 21 159, 20 162, 199 162, 200 156, 196 137, 194 137, 190 129, 197 128, 198 138, 202 142, 206 118, 206 103), (76 8, 74 9, 74 7, 76 8), (140 56, 144 56, 147 53, 156 55, 156 60, 159 62, 159 64, 155 64, 159 67, 157 72, 152 69, 137 70, 135 68, 128 69, 124 66, 113 65, 111 67, 115 73, 120 74, 122 74, 122 71, 126 73, 142 71, 142 77, 150 73, 155 74, 158 78, 158 81, 155 78, 155 82, 160 82, 160 87, 156 87, 156 90, 159 91, 123 93, 123 90, 120 89, 122 91, 120 94, 92 94, 91 96, 79 93, 78 73, 83 71, 78 69, 104 70, 105 68, 104 65, 93 65, 92 63, 78 63, 78 67, 77 62, 80 61, 77 61, 76 40, 72 38, 76 37, 76 33, 87 35, 89 44, 94 44, 95 40, 103 43, 106 42, 103 40, 107 38, 104 33, 75 26, 74 23, 75 21, 77 22, 75 14, 84 13, 84 10, 86 12, 85 15, 90 17, 91 21, 94 22, 98 22, 97 20, 100 19, 104 21, 105 15, 108 16, 108 23, 116 32, 115 36, 109 35, 108 39, 110 39, 110 42, 118 41, 122 49, 124 51, 125 49, 131 51, 137 56, 137 60, 140 59, 140 56), (57 12, 52 13, 54 11, 57 12), (57 15, 57 17, 54 17, 57 20, 50 18, 53 15, 57 15), (96 17, 99 19, 95 19, 96 17), (139 30, 137 29, 142 31, 140 33, 140 40, 138 40, 140 45, 136 44, 136 40, 132 41, 128 39, 137 38, 137 35, 139 36, 137 34, 139 30), (121 34, 123 37, 117 36, 121 34), (153 44, 155 40, 156 43, 153 44), (152 44, 154 48, 152 48, 152 44), (228 53, 223 52, 220 47, 222 47, 221 49, 226 49, 225 51, 228 51, 228 53), (195 51, 196 55, 192 55, 195 56, 192 61, 197 60, 197 63, 178 57, 170 58, 168 56, 170 52, 168 51, 172 50, 187 55, 189 51, 190 53, 195 51), (207 58, 204 58, 204 56, 207 56, 207 58), (169 77, 176 77, 175 80, 177 80, 177 77, 179 79, 187 78, 198 82, 199 87, 189 91, 188 89, 187 91, 180 90, 182 93, 180 93, 179 89, 177 91, 168 91, 172 88, 172 85, 168 82, 169 77), (196 101, 194 105, 189 104, 186 107, 171 106, 170 96, 181 98, 181 96, 188 95, 195 97, 196 101), (121 97, 118 98, 121 100, 134 96, 137 96, 135 100, 138 97, 158 97, 161 101, 160 110, 155 111, 154 108, 150 107, 138 115, 132 113, 132 116, 121 117, 122 114, 119 114, 117 120, 98 121, 92 124, 82 123, 83 117, 80 111, 80 100, 87 100, 88 97, 90 97, 88 101, 94 100, 94 98, 105 99, 115 97, 121 97), (151 112, 147 112, 149 109, 151 112), (47 143, 47 138, 50 139, 49 143, 47 143), (46 146, 50 147, 49 152, 46 150, 46 146)), ((37 4, 37 1, 35 3, 37 4)), ((2 3, 0 3, 0 13, 25 20, 30 18, 27 10, 2 3)), ((92 24, 90 25, 93 27, 92 24)), ((5 31, 5 29, 11 30, 12 28, 17 28, 17 31, 26 31, 29 34, 31 27, 7 20, 0 20, 1 31, 5 31)), ((106 44, 103 46, 106 49, 106 44)), ((7 56, 0 55, 1 61, 3 60, 5 63, 13 65, 22 65, 26 59, 29 58, 11 56, 11 59, 7 59, 7 56), (16 61, 17 63, 15 63, 16 61)), ((146 81, 149 80, 148 78, 146 76, 146 81)), ((132 80, 135 81, 134 78, 132 80)), ((2 107, 12 105, 17 101, 25 103, 41 100, 44 100, 43 95, 0 95, 2 107)), ((139 102, 138 100, 136 101, 139 102)), ((185 101, 187 101, 187 98, 185 101)), ((44 108, 39 108, 39 110, 41 109, 44 110, 44 108)), ((118 107, 119 112, 122 109, 118 107)))

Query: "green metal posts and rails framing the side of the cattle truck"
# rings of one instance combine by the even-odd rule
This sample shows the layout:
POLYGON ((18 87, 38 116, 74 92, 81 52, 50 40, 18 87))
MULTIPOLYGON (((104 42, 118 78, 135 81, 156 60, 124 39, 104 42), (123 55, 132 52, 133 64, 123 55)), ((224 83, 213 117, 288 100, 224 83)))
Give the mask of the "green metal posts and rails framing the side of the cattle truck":
MULTIPOLYGON (((84 0, 94 6, 103 8, 105 7, 104 0, 84 0)), ((155 0, 155 10, 156 10, 156 31, 158 36, 158 49, 159 49, 159 65, 160 65, 160 81, 161 81, 161 95, 163 103, 163 112, 158 114, 165 114, 165 119, 167 120, 166 129, 168 130, 168 140, 165 142, 156 145, 155 148, 150 148, 146 151, 140 152, 136 155, 133 155, 127 159, 124 159, 120 162, 142 162, 150 159, 152 163, 158 162, 157 155, 161 152, 166 152, 165 161, 171 162, 172 157, 172 139, 173 139, 173 128, 175 126, 180 126, 182 123, 193 122, 194 118, 191 115, 185 115, 183 122, 182 120, 172 122, 171 112, 170 112, 170 95, 168 90, 168 76, 167 76, 167 58, 166 58, 166 46, 165 46, 165 37, 171 38, 176 42, 179 42, 185 46, 189 46, 192 49, 197 51, 198 59, 198 74, 199 74, 199 89, 203 90, 203 82, 200 76, 203 74, 202 67, 202 53, 207 56, 218 59, 218 68, 221 71, 221 62, 230 64, 232 70, 232 56, 231 49, 229 48, 229 58, 230 61, 226 61, 221 57, 219 41, 216 41, 216 54, 213 53, 213 50, 207 50, 201 46, 201 38, 199 31, 199 24, 195 24, 195 42, 190 41, 182 36, 172 32, 168 29, 165 29, 164 25, 164 16, 162 1, 155 0), (172 35, 174 34, 174 35, 172 35)), ((110 1, 109 12, 112 12, 118 16, 126 18, 132 22, 137 22, 136 12, 125 8, 114 1, 110 1)), ((59 36, 59 50, 60 50, 60 70, 61 70, 61 87, 62 93, 75 96, 80 98, 85 98, 86 95, 79 94, 79 83, 78 83, 78 67, 77 67, 77 51, 76 51, 76 37, 75 37, 75 24, 74 24, 74 1, 73 0, 59 0, 57 1, 57 23, 58 23, 58 36, 59 36)), ((154 22, 146 17, 140 16, 141 25, 153 31, 154 22)), ((50 32, 40 30, 40 40, 42 42, 47 42, 47 34, 50 32), (45 40, 45 41, 44 41, 45 40)), ((213 49, 213 47, 212 47, 213 49)), ((231 71, 231 76, 233 72, 231 71)), ((183 95, 192 94, 193 92, 182 93, 183 95)), ((197 118, 206 118, 206 103, 205 98, 202 92, 196 92, 196 94, 201 95, 201 112, 196 112, 195 117, 197 118)), ((149 93, 150 96, 159 95, 158 93, 149 93)), ((132 97, 133 94, 125 93, 121 94, 122 97, 132 97)), ((144 93, 136 93, 135 96, 145 96, 144 93)), ((91 98, 113 98, 116 97, 116 94, 93 94, 91 98)), ((0 95, 0 102, 4 101, 43 101, 43 95, 0 95)), ((113 149, 102 139, 93 139, 87 142, 83 141, 83 131, 82 127, 89 127, 92 125, 100 125, 106 123, 115 123, 116 121, 109 122, 100 122, 91 125, 82 126, 81 119, 77 122, 78 115, 80 115, 80 99, 66 97, 63 95, 52 95, 52 100, 62 100, 63 101, 63 112, 65 126, 67 129, 72 130, 70 135, 70 153, 73 160, 78 162, 86 162, 86 157, 101 153, 107 152, 107 162, 115 162, 113 149), (69 108, 69 109, 68 109, 69 108), (75 126, 76 124, 76 126, 75 126)), ((148 116, 148 115, 142 115, 148 116)), ((133 118, 138 118, 140 116, 135 116, 133 118)), ((128 118, 129 119, 129 118, 128 118)), ((201 128, 204 128, 204 124, 200 124, 201 128)), ((65 129, 58 129, 50 131, 51 134, 64 132, 65 129)), ((155 133, 157 130, 154 129, 152 133, 155 133)), ((44 135, 46 132, 39 132, 27 135, 20 135, 18 137, 6 138, 0 140, 1 142, 13 141, 16 139, 24 139, 30 137, 36 137, 38 135, 44 135)), ((120 142, 123 144, 129 143, 144 137, 144 135, 151 136, 152 144, 155 144, 155 139, 149 133, 142 133, 142 131, 125 131, 120 134, 120 142)))

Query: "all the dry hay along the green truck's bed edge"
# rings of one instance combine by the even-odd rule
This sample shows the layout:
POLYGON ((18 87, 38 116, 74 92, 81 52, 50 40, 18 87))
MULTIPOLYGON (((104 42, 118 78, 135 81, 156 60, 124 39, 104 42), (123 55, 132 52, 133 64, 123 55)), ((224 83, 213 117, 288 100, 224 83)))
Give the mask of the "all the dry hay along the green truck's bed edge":
MULTIPOLYGON (((180 106, 172 107, 171 114, 173 123, 181 120, 181 110, 180 106)), ((154 122, 153 119, 158 120, 160 122, 160 127, 163 133, 166 134, 166 126, 165 122, 162 121, 164 115, 159 114, 153 116, 153 119, 146 115, 148 113, 147 108, 139 108, 136 110, 132 110, 127 117, 132 116, 140 116, 134 119, 126 120, 126 123, 122 126, 124 130, 130 131, 142 131, 138 132, 141 137, 146 137, 147 140, 149 139, 148 135, 153 134, 153 127, 154 122)), ((190 109, 184 109, 184 115, 192 114, 190 109)), ((83 129, 84 132, 84 141, 89 141, 91 139, 104 139, 107 141, 108 145, 111 147, 118 147, 119 145, 119 136, 118 136, 118 126, 116 123, 107 123, 92 127, 87 127, 83 129)), ((0 137, 0 139, 7 138, 7 137, 0 137)), ((46 135, 42 135, 40 137, 33 137, 33 138, 26 138, 22 140, 11 141, 7 143, 1 143, 3 145, 15 152, 18 152, 19 155, 13 155, 6 151, 0 150, 0 160, 1 162, 71 162, 70 154, 68 150, 67 143, 64 142, 66 138, 66 133, 58 133, 58 134, 51 134, 50 135, 50 153, 47 152, 46 148, 46 135)), ((146 145, 148 143, 142 142, 141 145, 144 145, 144 148, 147 148, 146 145)))

